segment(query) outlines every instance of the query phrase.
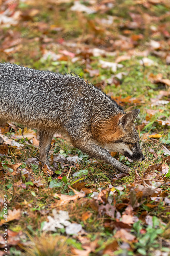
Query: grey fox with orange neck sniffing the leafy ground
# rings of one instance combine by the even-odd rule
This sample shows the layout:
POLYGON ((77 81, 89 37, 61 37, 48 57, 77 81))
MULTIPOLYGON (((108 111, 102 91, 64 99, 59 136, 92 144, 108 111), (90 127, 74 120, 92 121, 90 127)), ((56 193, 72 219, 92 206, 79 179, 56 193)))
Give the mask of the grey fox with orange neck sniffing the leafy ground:
POLYGON ((77 75, 0 63, 0 123, 11 120, 37 129, 43 165, 49 166, 52 137, 61 133, 89 156, 128 172, 130 168, 108 151, 119 151, 135 161, 145 159, 134 127, 139 111, 125 113, 103 91, 77 75))

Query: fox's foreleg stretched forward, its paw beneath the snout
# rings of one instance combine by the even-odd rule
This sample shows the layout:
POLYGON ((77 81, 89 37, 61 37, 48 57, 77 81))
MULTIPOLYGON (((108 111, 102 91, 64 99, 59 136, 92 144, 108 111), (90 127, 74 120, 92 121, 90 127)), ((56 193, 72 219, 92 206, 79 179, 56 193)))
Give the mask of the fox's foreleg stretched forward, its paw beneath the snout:
POLYGON ((129 167, 117 161, 107 152, 106 149, 100 147, 91 139, 83 141, 78 140, 73 142, 73 145, 81 151, 86 152, 89 156, 101 159, 107 164, 110 164, 121 173, 128 173, 130 171, 129 167))

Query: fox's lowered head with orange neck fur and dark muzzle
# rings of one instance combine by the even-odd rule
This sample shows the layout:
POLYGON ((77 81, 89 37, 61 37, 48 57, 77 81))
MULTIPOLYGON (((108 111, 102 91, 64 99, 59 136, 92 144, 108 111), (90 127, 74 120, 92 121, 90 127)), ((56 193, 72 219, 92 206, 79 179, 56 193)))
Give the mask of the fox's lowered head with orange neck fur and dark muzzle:
POLYGON ((97 141, 108 151, 117 151, 134 161, 143 161, 134 121, 140 109, 112 116, 99 128, 97 141))

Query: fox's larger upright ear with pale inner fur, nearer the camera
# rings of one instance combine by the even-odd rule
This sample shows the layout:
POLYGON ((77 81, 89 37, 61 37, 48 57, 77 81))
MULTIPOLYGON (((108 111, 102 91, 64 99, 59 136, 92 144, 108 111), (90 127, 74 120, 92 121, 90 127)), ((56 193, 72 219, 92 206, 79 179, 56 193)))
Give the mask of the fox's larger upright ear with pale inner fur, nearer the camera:
POLYGON ((139 114, 140 109, 134 109, 131 110, 130 112, 127 112, 124 114, 118 121, 118 125, 122 126, 124 129, 126 129, 127 126, 131 126, 137 115, 139 114))

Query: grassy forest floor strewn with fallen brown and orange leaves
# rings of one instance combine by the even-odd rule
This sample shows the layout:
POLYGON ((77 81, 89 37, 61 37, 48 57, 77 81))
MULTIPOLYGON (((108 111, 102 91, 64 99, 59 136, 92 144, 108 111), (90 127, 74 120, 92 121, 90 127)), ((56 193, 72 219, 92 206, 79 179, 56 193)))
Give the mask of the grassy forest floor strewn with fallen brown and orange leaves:
POLYGON ((140 108, 145 156, 110 152, 131 169, 120 174, 58 134, 52 172, 36 131, 9 121, 0 128, 0 256, 170 255, 169 1, 2 0, 0 13, 1 61, 75 72, 125 110, 140 108))

